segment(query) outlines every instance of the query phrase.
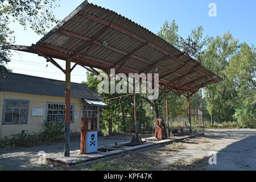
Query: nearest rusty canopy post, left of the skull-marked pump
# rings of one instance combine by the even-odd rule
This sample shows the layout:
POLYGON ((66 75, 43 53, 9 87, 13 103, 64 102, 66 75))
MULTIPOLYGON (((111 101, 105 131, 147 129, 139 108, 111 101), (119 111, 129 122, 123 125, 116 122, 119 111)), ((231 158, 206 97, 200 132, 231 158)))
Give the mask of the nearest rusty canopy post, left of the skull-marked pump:
POLYGON ((65 157, 70 155, 70 97, 71 97, 71 59, 66 61, 66 81, 65 81, 65 157))

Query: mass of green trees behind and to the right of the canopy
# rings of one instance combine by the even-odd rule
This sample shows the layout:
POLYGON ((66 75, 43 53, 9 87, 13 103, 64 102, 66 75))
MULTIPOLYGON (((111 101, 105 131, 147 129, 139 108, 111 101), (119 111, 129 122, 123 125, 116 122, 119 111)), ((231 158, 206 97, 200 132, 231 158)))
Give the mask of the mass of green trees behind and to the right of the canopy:
MULTIPOLYGON (((181 51, 183 51, 183 41, 192 40, 193 43, 196 43, 197 51, 201 52, 202 65, 223 79, 217 84, 210 84, 207 88, 199 90, 191 97, 192 109, 204 111, 205 121, 209 121, 212 116, 213 121, 218 123, 205 127, 227 128, 245 127, 245 125, 249 127, 248 124, 242 125, 241 121, 251 123, 255 120, 255 112, 247 109, 256 100, 255 47, 249 47, 246 43, 239 44, 239 40, 234 38, 229 31, 222 36, 213 38, 204 35, 203 27, 198 26, 185 39, 181 38, 178 32, 179 26, 175 20, 171 23, 166 21, 160 28, 158 36, 181 51)), ((99 82, 96 76, 88 73, 86 85, 97 90, 99 82)), ((124 94, 126 93, 109 93, 101 94, 101 96, 104 100, 108 100, 124 94)), ((167 97, 169 117, 187 117, 187 98, 172 93, 168 93, 167 97)), ((102 131, 107 133, 111 117, 113 117, 113 133, 134 130, 133 96, 105 102, 109 106, 102 110, 102 131)), ((137 104, 139 130, 152 131, 155 127, 156 117, 166 119, 164 88, 159 90, 157 100, 148 100, 147 94, 144 93, 137 94, 137 104)), ((201 126, 201 123, 192 119, 192 125, 201 126)))

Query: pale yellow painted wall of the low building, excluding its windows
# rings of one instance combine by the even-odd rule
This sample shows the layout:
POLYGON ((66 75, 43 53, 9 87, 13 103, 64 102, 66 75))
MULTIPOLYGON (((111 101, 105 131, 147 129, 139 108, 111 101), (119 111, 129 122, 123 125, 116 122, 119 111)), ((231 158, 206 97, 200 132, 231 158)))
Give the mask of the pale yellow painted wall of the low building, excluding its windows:
MULTIPOLYGON (((5 136, 10 137, 12 134, 20 134, 22 130, 28 131, 28 133, 40 133, 44 131, 44 122, 46 121, 46 105, 47 102, 57 102, 65 104, 64 97, 55 96, 41 96, 35 94, 16 93, 16 92, 0 92, 0 138, 5 136), (3 104, 5 99, 11 100, 28 100, 28 122, 21 125, 3 125, 3 104), (43 116, 32 116, 32 107, 43 108, 43 116)), ((75 105, 74 122, 71 123, 71 133, 80 133, 81 117, 82 117, 82 99, 71 98, 71 104, 75 105), (77 116, 77 117, 76 117, 77 116)), ((98 108, 97 108, 98 109, 98 108)), ((97 114, 99 117, 99 113, 97 114)), ((99 120, 99 119, 98 119, 99 120)))

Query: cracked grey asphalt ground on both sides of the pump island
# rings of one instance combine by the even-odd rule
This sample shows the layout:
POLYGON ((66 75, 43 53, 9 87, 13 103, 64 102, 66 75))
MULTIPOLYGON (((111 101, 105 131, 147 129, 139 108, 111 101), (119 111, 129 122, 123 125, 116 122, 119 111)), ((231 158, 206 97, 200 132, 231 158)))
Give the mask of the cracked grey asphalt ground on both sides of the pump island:
MULTIPOLYGON (((163 167, 176 164, 180 160, 194 161, 193 159, 209 159, 216 154, 216 162, 197 163, 196 169, 201 170, 256 170, 256 129, 226 129, 207 130, 205 135, 183 140, 166 146, 156 146, 138 151, 149 158, 158 159, 163 167), (201 165, 198 167, 198 165, 201 165)), ((101 143, 112 144, 115 141, 130 140, 131 136, 115 136, 102 138, 101 143)), ((71 149, 79 147, 79 139, 71 142, 71 149)), ((49 153, 63 150, 63 143, 51 146, 36 146, 30 148, 15 148, 0 150, 0 170, 42 170, 38 165, 38 151, 45 150, 49 153)), ((191 165, 191 170, 193 170, 191 165)), ((47 168, 56 170, 57 168, 47 168)), ((187 168, 186 168, 187 169, 187 168)))

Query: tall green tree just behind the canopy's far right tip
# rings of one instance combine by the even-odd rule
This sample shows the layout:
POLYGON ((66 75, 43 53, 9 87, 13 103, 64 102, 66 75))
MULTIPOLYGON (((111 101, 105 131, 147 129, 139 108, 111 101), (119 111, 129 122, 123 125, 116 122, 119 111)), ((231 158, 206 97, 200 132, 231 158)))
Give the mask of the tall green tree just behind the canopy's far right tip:
POLYGON ((212 124, 214 115, 217 121, 233 120, 237 91, 234 82, 226 78, 224 71, 229 65, 229 60, 236 55, 238 48, 238 40, 228 31, 222 37, 217 36, 213 39, 203 54, 204 67, 223 78, 221 82, 209 85, 205 89, 207 109, 211 115, 212 124))

